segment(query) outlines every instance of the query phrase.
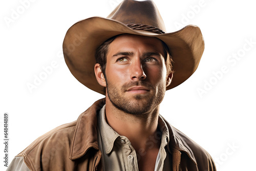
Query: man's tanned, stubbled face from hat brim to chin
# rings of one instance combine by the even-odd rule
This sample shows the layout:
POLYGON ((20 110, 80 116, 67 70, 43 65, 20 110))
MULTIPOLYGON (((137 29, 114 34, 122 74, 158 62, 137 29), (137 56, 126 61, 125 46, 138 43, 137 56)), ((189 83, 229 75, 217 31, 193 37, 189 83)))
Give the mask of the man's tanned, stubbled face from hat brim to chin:
POLYGON ((129 114, 151 112, 166 91, 162 42, 155 37, 124 34, 106 55, 106 98, 129 114))

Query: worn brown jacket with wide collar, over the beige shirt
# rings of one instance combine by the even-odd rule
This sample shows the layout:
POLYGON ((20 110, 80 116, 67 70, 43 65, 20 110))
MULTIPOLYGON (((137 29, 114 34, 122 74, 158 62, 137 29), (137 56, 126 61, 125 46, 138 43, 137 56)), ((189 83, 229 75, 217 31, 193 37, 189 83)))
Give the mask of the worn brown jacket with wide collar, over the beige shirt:
MULTIPOLYGON (((17 156, 23 156, 30 170, 36 171, 102 170, 96 114, 104 104, 104 99, 96 101, 76 121, 42 135, 17 156)), ((173 170, 216 170, 214 161, 202 147, 169 124, 168 129, 173 170)))

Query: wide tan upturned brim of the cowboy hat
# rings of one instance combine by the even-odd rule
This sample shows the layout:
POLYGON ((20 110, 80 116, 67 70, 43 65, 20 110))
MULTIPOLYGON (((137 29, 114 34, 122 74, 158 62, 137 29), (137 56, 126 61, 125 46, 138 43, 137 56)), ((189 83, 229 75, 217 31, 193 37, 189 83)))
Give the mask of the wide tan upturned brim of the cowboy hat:
POLYGON ((173 33, 156 34, 133 30, 116 20, 91 17, 74 24, 63 40, 65 61, 74 77, 89 89, 105 95, 94 73, 95 52, 105 40, 125 33, 157 37, 168 46, 175 73, 166 90, 179 86, 196 71, 204 51, 203 36, 197 26, 188 25, 173 33))

